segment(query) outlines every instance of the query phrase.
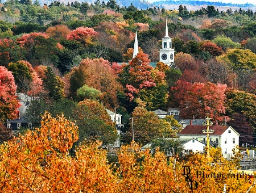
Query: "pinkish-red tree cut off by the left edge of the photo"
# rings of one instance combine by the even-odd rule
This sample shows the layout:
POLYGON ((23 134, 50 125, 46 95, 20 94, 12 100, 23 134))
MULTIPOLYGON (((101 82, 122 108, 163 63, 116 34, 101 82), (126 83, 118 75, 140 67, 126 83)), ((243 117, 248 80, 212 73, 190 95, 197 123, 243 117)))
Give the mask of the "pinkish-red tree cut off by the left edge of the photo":
POLYGON ((18 115, 17 108, 20 106, 16 100, 16 85, 13 73, 4 66, 0 66, 0 121, 13 120, 18 115))

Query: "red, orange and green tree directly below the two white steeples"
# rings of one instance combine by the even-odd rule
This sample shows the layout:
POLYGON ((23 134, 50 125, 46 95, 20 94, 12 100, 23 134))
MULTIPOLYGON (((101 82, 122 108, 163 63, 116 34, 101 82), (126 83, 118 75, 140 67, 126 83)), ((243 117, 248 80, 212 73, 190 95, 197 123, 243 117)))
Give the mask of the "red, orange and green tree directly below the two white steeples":
POLYGON ((166 102, 167 85, 164 81, 164 72, 153 69, 149 61, 147 54, 139 52, 129 65, 123 65, 118 74, 130 102, 135 102, 148 110, 155 110, 166 102))

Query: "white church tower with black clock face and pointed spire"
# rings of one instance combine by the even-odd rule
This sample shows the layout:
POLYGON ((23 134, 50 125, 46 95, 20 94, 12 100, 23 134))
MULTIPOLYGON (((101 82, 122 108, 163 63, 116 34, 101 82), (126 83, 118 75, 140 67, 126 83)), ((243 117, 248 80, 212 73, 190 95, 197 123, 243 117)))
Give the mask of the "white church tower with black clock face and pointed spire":
POLYGON ((166 36, 162 38, 162 48, 159 50, 160 62, 171 66, 174 64, 174 49, 172 49, 172 39, 168 36, 167 18, 166 18, 166 36))

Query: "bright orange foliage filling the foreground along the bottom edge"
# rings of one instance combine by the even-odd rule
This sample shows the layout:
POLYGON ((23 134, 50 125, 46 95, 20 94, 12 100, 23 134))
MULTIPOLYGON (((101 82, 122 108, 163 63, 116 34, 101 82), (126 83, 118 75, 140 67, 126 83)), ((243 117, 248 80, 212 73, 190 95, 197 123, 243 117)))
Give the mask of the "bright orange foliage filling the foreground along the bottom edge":
POLYGON ((2 192, 255 192, 253 173, 239 174, 240 154, 226 160, 220 149, 187 160, 152 155, 137 144, 122 146, 118 164, 108 163, 100 142, 69 149, 77 126, 62 115, 43 115, 42 127, 0 146, 2 192), (209 164, 210 163, 210 164, 209 164), (193 190, 191 190, 193 189, 193 190))

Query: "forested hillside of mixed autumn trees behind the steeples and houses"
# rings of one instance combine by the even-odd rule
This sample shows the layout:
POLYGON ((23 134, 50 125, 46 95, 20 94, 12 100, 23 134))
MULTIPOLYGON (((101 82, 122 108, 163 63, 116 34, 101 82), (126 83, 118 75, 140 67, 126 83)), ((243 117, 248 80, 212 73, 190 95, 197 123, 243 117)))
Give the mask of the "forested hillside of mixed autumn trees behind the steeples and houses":
MULTIPOLYGON (((188 11, 180 5, 178 10, 139 10, 118 6, 114 0, 43 6, 28 0, 1 3, 1 84, 13 85, 1 85, 1 121, 16 116, 16 89, 36 96, 28 104, 27 119, 33 126, 45 110, 79 119, 77 103, 87 99, 90 102, 82 106, 100 102, 122 114, 123 123, 129 123, 131 113, 158 108, 181 108, 184 119, 209 114, 222 123, 229 116, 241 139, 253 141, 255 18, 250 9, 218 11, 207 6, 188 11), (158 62, 166 18, 175 68, 158 62), (140 49, 133 58, 135 31, 140 49), (158 62, 156 68, 150 61, 158 62)), ((88 127, 100 121, 96 115, 90 115, 96 122, 88 127)), ((124 132, 129 131, 130 125, 125 126, 124 132)))

